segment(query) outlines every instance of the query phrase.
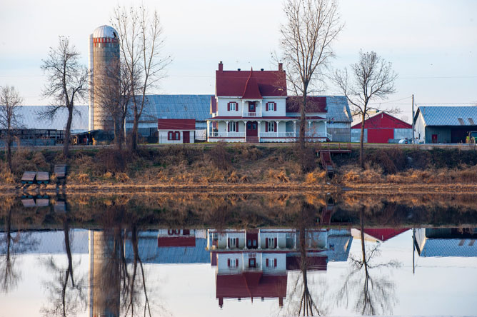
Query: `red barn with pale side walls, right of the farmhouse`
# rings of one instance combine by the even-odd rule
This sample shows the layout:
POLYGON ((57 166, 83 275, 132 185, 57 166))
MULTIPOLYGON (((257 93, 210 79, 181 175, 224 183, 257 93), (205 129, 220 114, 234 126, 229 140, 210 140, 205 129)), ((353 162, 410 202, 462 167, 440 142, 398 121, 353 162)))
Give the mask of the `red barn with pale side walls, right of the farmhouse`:
MULTIPOLYGON (((401 139, 411 140, 412 126, 395 116, 378 112, 364 121, 364 141, 366 143, 398 143, 401 139)), ((361 122, 351 126, 351 142, 359 142, 361 122)))

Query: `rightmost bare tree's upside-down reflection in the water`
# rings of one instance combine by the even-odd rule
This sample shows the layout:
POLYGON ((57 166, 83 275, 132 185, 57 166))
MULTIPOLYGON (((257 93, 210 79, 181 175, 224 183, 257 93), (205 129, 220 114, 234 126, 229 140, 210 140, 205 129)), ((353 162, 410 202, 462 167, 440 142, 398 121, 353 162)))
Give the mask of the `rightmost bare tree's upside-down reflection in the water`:
POLYGON ((354 309, 362 315, 391 314, 396 304, 395 283, 389 276, 373 278, 371 271, 376 268, 397 268, 401 263, 395 260, 376 263, 380 255, 379 244, 367 248, 364 241, 364 208, 360 212, 361 257, 350 256, 351 269, 344 278, 343 286, 336 295, 337 305, 349 306, 350 294, 356 295, 354 309))

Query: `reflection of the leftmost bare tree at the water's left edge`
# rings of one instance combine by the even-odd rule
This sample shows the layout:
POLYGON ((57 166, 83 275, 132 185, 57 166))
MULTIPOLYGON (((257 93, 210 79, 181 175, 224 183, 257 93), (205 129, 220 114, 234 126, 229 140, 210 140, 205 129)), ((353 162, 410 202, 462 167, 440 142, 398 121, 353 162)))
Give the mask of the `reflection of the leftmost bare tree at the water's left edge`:
POLYGON ((4 293, 12 291, 21 280, 21 273, 16 270, 16 255, 35 248, 38 241, 29 232, 14 231, 13 205, 14 198, 4 198, 3 213, 5 231, 0 233, 0 290, 4 293))

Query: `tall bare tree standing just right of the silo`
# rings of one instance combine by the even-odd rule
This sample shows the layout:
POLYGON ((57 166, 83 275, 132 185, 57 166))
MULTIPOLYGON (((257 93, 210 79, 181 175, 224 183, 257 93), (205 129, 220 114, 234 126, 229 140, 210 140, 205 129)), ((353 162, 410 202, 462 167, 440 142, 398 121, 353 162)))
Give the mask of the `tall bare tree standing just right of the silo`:
POLYGON ((119 34, 125 76, 129 76, 129 82, 134 84, 131 89, 134 124, 130 149, 136 151, 139 119, 147 103, 146 94, 164 78, 164 70, 171 63, 171 58, 162 56, 164 30, 156 10, 150 15, 144 6, 117 6, 112 24, 119 34))

